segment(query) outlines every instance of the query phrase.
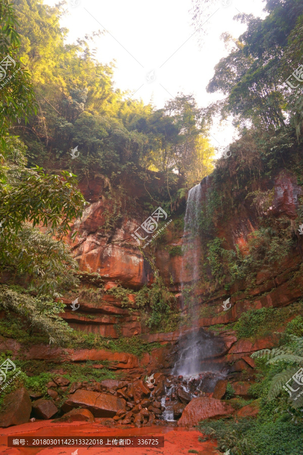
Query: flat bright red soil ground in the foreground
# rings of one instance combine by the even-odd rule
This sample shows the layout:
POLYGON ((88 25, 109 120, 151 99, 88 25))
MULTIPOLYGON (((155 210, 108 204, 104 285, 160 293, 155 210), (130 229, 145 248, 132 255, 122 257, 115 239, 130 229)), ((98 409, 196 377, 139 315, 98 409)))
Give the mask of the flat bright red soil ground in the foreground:
MULTIPOLYGON (((98 421, 99 419, 97 419, 98 421)), ((78 448, 78 455, 97 455, 102 453, 113 453, 113 455, 187 455, 188 450, 196 450, 199 455, 216 455, 216 444, 211 441, 198 442, 201 433, 195 430, 185 430, 178 427, 142 427, 142 428, 108 428, 100 425, 100 422, 73 422, 73 423, 51 423, 51 421, 35 421, 10 428, 0 428, 0 454, 4 455, 71 455, 78 448), (19 438, 29 437, 100 437, 109 436, 118 438, 126 436, 164 436, 164 448, 130 448, 130 447, 8 447, 7 437, 19 438)))

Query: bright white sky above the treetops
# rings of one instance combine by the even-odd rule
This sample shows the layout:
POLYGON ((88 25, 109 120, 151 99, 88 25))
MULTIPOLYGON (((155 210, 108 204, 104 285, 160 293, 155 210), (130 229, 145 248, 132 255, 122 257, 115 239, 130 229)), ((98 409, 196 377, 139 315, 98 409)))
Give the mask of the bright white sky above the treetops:
MULTIPOLYGON (((58 0, 44 0, 55 5, 58 0)), ((142 99, 162 108, 178 92, 194 95, 199 107, 222 98, 208 94, 214 67, 228 54, 220 35, 238 37, 245 25, 234 21, 239 13, 264 17, 262 0, 213 0, 204 44, 191 25, 191 0, 67 0, 68 14, 61 25, 69 29, 68 42, 106 30, 94 39, 96 59, 115 61, 115 86, 128 90, 127 98, 142 99)), ((236 137, 230 122, 216 122, 211 144, 218 154, 236 137), (224 123, 224 125, 223 125, 224 123)))

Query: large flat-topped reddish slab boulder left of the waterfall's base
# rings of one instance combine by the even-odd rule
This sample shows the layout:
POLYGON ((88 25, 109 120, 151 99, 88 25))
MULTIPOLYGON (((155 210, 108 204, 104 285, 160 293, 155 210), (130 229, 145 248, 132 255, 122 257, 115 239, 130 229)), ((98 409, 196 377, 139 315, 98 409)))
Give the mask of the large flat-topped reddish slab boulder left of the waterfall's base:
POLYGON ((115 395, 78 389, 68 395, 62 411, 69 412, 75 407, 88 409, 94 417, 114 417, 118 411, 126 412, 126 401, 115 395))

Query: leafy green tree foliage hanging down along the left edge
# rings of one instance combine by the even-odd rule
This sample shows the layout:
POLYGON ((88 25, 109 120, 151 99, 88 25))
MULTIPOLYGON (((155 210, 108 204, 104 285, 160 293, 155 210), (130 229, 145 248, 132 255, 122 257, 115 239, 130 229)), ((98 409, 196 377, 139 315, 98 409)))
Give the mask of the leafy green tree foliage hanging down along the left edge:
POLYGON ((67 233, 70 221, 82 213, 85 203, 77 190, 76 175, 28 168, 26 146, 10 134, 18 118, 29 121, 36 102, 30 75, 17 63, 18 22, 7 0, 0 0, 0 18, 1 54, 9 57, 2 63, 2 78, 9 79, 0 90, 0 270, 9 272, 13 282, 16 276, 23 276, 28 285, 24 293, 2 286, 0 303, 27 317, 51 341, 59 342, 68 337, 70 329, 58 316, 63 304, 54 303, 53 298, 64 287, 77 286, 78 280, 74 274, 77 263, 69 248, 54 237, 67 233), (18 71, 13 73, 15 68, 18 71), (46 234, 34 229, 35 225, 47 229, 46 234), (27 295, 30 292, 36 297, 27 295))

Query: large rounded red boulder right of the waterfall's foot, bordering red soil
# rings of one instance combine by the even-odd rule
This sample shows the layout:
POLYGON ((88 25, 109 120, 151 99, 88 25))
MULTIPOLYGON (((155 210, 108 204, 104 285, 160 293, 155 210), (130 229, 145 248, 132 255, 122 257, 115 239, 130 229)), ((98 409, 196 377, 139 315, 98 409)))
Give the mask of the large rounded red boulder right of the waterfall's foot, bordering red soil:
POLYGON ((234 409, 225 401, 208 397, 193 398, 184 408, 178 426, 193 427, 200 420, 228 416, 233 413, 234 409))

